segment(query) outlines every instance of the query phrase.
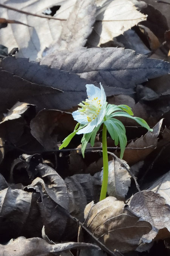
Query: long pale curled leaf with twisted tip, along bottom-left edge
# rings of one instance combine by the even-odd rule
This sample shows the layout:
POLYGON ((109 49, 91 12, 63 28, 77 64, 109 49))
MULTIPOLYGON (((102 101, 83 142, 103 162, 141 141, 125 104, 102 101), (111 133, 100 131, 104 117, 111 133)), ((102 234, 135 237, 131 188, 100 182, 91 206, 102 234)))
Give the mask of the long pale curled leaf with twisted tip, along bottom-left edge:
POLYGON ((100 250, 100 248, 97 245, 93 245, 91 243, 67 242, 51 245, 39 237, 32 237, 26 239, 26 237, 23 236, 18 237, 15 240, 9 241, 9 243, 7 243, 6 245, 0 245, 0 251, 2 253, 1 255, 4 256, 49 256, 51 255, 51 253, 59 253, 71 249, 84 248, 100 250))

